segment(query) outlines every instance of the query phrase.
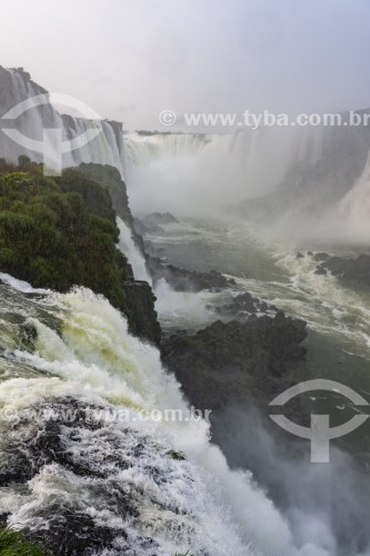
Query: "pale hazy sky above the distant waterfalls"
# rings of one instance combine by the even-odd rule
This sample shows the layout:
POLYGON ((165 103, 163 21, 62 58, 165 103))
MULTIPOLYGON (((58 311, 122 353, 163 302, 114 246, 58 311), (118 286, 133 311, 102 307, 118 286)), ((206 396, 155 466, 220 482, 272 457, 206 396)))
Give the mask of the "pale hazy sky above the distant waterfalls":
POLYGON ((0 64, 126 129, 370 106, 369 0, 2 0, 0 64))

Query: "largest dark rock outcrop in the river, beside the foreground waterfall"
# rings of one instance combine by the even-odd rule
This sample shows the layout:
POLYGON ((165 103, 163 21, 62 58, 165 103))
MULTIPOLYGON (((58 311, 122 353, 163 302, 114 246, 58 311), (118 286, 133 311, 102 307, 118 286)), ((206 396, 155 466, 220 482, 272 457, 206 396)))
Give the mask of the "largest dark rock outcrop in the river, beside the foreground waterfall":
POLYGON ((191 404, 266 404, 283 390, 286 370, 306 355, 306 322, 278 312, 217 321, 193 336, 163 337, 162 359, 191 404))

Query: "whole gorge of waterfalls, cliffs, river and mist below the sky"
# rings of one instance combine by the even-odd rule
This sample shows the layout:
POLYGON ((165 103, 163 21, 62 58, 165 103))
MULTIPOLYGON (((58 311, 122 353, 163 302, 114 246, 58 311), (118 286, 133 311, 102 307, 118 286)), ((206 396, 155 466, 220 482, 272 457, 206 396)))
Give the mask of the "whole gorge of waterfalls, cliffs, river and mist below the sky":
MULTIPOLYGON (((0 116, 39 93, 0 68, 0 116)), ((52 555, 370 554, 367 425, 312 468, 267 408, 370 391, 369 290, 314 258, 369 254, 369 127, 140 135, 48 102, 18 126, 100 133, 44 177, 0 130, 2 522, 52 555)))

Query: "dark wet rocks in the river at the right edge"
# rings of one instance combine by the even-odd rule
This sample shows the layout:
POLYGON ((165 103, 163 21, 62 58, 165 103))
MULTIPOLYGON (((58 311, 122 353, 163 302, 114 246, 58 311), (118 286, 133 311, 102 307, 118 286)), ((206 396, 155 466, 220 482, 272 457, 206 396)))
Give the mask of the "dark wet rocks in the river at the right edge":
POLYGON ((318 267, 318 270, 330 271, 347 282, 370 286, 370 255, 360 255, 357 259, 330 257, 318 267))

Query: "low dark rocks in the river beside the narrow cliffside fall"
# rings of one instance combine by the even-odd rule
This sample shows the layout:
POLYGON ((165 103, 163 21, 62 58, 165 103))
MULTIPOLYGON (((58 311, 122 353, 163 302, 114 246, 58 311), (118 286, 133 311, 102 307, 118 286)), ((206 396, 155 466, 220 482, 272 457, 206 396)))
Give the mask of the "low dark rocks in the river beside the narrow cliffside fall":
POLYGON ((158 257, 147 257, 147 265, 154 282, 164 279, 176 291, 219 291, 236 286, 233 279, 226 278, 218 270, 206 272, 186 270, 167 265, 158 257))

